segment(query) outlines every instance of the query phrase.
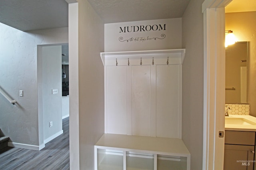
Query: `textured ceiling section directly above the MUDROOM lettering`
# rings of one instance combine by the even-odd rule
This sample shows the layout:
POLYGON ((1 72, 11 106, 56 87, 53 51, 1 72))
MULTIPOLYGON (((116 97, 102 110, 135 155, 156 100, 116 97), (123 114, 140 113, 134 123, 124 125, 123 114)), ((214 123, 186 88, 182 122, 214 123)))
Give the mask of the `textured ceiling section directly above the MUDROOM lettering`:
POLYGON ((182 17, 190 0, 88 0, 104 23, 182 17))

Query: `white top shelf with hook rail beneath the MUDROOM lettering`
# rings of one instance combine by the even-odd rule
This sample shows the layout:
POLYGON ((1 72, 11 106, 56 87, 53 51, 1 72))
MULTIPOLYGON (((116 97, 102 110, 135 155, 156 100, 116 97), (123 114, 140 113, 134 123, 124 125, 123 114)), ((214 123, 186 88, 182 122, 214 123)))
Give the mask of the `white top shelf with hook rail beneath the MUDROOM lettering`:
POLYGON ((121 51, 100 53, 104 66, 151 65, 154 57, 154 64, 182 64, 185 56, 185 49, 147 50, 147 51, 121 51))

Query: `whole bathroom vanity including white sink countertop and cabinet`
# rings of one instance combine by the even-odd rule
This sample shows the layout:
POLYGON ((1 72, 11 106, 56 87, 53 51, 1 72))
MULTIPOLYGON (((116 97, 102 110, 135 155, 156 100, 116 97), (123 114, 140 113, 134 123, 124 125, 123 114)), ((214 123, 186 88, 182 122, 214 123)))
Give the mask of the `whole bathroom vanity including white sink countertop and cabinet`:
POLYGON ((256 117, 225 117, 224 170, 255 170, 256 117))

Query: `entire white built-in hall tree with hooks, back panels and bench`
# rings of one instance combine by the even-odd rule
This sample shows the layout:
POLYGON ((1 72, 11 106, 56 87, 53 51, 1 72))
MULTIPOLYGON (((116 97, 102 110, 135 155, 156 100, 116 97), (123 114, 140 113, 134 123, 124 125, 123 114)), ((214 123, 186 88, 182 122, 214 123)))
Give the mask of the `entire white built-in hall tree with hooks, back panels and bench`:
POLYGON ((105 134, 95 145, 96 170, 190 169, 181 140, 184 55, 185 49, 101 53, 105 134), (136 148, 150 142, 155 149, 136 148), (145 167, 132 168, 136 164, 145 167))

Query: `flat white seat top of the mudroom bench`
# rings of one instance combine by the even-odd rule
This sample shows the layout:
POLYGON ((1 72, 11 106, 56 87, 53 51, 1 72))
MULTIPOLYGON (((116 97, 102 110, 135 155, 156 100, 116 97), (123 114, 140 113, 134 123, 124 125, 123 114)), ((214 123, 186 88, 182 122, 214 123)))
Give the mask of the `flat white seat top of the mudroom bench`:
POLYGON ((98 147, 123 149, 125 151, 144 152, 173 156, 190 156, 182 139, 164 137, 146 137, 105 133, 96 143, 98 147))

